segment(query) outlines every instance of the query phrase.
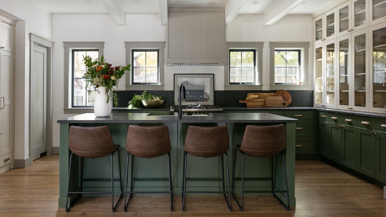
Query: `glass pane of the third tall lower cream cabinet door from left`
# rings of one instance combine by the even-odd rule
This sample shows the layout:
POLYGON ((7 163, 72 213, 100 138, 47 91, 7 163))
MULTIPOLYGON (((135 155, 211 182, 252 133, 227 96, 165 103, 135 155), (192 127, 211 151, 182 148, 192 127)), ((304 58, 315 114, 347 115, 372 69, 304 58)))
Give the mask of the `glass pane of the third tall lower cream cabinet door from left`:
MULTIPOLYGON (((339 41, 339 105, 349 105, 349 39, 339 41)), ((327 84, 327 94, 334 92, 334 84, 327 84)))

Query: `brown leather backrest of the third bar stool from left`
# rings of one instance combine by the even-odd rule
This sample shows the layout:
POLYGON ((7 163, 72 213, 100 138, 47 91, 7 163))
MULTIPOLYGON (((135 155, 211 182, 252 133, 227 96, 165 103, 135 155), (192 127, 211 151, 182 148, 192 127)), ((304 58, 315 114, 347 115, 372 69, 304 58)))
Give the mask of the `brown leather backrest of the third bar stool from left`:
POLYGON ((229 150, 228 127, 189 126, 186 133, 184 151, 202 157, 212 158, 229 150))

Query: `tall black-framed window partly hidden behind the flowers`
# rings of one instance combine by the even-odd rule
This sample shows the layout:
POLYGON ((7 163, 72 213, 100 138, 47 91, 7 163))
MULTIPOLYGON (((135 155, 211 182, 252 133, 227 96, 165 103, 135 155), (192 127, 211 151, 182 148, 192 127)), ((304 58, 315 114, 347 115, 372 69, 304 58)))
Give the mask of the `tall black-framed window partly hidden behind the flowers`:
POLYGON ((95 92, 90 95, 87 93, 86 81, 82 79, 86 73, 86 66, 83 63, 83 56, 98 58, 98 49, 73 49, 72 50, 72 70, 71 70, 71 107, 93 107, 95 102, 95 92))

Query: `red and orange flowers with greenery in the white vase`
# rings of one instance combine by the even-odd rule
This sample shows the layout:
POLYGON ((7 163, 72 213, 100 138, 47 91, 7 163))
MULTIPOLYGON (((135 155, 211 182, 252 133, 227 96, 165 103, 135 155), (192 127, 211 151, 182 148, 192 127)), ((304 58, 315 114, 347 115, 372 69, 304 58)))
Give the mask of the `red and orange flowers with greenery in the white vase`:
POLYGON ((106 87, 107 102, 112 100, 115 107, 118 105, 117 91, 116 86, 118 81, 125 74, 125 71, 130 71, 130 64, 127 66, 115 66, 107 63, 106 60, 102 57, 92 59, 90 56, 83 56, 83 62, 87 67, 83 79, 86 80, 86 88, 88 94, 92 91, 98 91, 98 87, 106 87))

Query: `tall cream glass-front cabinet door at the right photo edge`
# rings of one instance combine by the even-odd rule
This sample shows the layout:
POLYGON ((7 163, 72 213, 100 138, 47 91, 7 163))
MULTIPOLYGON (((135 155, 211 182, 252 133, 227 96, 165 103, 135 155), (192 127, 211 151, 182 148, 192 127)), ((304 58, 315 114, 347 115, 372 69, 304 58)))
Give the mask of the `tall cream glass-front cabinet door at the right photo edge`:
POLYGON ((386 22, 370 27, 370 112, 386 111, 386 22))

